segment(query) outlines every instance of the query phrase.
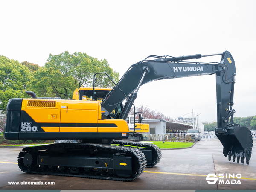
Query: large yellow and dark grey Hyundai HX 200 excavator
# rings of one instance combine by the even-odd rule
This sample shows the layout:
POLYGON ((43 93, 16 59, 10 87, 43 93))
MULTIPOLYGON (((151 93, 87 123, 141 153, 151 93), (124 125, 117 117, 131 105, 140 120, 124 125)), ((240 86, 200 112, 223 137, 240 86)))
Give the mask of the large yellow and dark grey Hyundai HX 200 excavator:
POLYGON ((162 157, 156 145, 126 141, 129 135, 135 134, 135 122, 134 131, 130 133, 125 119, 140 86, 162 79, 212 74, 216 76, 217 93, 215 134, 223 145, 223 154, 238 163, 240 158, 241 163, 246 158, 249 164, 253 140, 248 128, 233 122, 236 68, 228 51, 181 57, 148 56, 131 65, 102 101, 97 100, 94 86, 91 101, 37 98, 35 93, 27 92, 31 99, 9 100, 4 138, 78 141, 23 148, 18 156, 23 172, 131 181, 139 177, 145 167, 157 165, 162 157), (215 55, 220 55, 221 61, 191 61, 215 55))

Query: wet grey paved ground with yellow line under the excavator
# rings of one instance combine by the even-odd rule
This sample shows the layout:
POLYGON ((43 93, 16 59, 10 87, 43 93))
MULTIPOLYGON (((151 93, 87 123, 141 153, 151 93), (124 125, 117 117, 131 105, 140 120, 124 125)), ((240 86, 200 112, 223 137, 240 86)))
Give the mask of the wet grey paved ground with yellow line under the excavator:
MULTIPOLYGON (((20 148, 0 148, 0 189, 256 189, 256 147, 253 147, 250 164, 229 162, 222 154, 222 145, 218 140, 197 142, 192 148, 163 150, 163 158, 154 168, 145 172, 132 182, 94 180, 76 177, 50 175, 32 175, 20 171, 17 156, 20 148), (9 162, 9 163, 7 163, 9 162), (206 176, 241 174, 241 184, 209 185, 206 176), (8 181, 55 182, 54 185, 9 185, 8 181)), ((232 178, 228 179, 231 183, 232 178)), ((224 183, 227 179, 224 179, 224 183)), ((233 181, 234 182, 234 181, 233 181)))

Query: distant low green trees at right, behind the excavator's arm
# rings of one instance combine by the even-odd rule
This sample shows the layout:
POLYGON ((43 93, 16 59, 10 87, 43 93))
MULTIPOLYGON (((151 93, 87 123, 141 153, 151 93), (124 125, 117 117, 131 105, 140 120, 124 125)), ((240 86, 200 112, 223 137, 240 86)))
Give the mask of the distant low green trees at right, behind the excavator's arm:
MULTIPOLYGON (((256 130, 256 116, 234 117, 233 122, 239 124, 241 127, 247 127, 250 130, 256 130)), ((214 131, 216 127, 217 122, 204 124, 204 131, 214 131)))

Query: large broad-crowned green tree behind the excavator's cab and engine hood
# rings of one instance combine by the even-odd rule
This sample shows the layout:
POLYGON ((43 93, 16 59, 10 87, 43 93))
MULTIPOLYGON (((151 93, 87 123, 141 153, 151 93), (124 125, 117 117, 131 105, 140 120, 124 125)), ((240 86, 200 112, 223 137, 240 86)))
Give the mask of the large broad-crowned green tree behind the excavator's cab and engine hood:
MULTIPOLYGON (((30 82, 30 89, 38 96, 57 96, 63 99, 72 98, 73 91, 79 87, 92 87, 93 75, 99 72, 107 73, 113 81, 118 81, 116 73, 104 59, 88 56, 86 53, 63 52, 59 55, 49 55, 44 67, 40 67, 30 82)), ((106 76, 96 76, 96 87, 112 87, 112 82, 106 76)))

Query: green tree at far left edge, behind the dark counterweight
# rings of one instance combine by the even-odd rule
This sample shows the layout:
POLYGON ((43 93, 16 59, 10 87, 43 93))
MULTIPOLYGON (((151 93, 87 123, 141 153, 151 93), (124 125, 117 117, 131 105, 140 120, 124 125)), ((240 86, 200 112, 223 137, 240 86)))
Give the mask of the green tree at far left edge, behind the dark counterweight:
POLYGON ((0 55, 0 110, 6 113, 11 98, 23 97, 31 77, 28 67, 0 55))

